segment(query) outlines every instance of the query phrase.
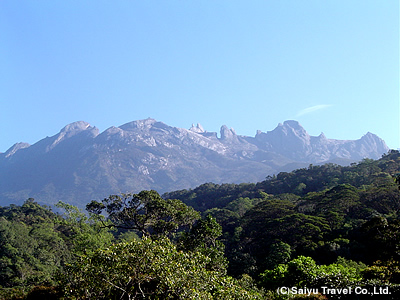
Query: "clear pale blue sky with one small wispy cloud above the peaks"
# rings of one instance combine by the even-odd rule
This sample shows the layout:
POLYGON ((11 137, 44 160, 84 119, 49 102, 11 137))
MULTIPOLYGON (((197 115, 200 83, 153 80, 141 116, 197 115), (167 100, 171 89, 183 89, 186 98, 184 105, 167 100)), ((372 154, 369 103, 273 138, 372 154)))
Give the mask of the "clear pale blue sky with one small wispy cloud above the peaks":
POLYGON ((2 0, 0 152, 83 120, 399 144, 398 0, 2 0))

